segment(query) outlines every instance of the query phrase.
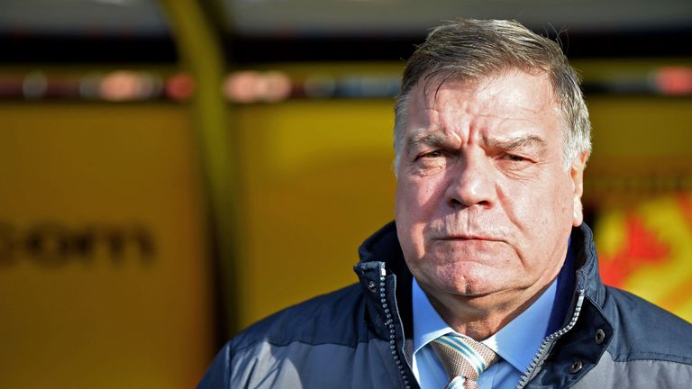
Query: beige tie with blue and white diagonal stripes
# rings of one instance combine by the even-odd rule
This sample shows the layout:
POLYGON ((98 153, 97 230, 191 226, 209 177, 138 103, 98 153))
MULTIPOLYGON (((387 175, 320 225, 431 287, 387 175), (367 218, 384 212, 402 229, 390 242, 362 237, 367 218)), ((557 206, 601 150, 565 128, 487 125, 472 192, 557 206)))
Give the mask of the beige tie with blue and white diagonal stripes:
POLYGON ((483 343, 458 335, 442 335, 431 344, 450 377, 445 389, 478 389, 478 375, 497 359, 495 351, 483 343))

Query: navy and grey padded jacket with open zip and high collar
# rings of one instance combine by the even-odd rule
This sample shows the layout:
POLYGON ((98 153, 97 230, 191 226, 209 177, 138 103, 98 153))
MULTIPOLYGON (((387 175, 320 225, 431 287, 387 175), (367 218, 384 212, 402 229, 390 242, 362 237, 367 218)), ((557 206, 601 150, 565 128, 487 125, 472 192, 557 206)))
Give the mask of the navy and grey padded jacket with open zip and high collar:
MULTIPOLYGON (((572 231, 550 334, 517 388, 692 387, 692 325, 605 286, 586 225, 572 231)), ((198 388, 417 388, 412 276, 394 222, 360 247, 360 282, 259 321, 198 388)))

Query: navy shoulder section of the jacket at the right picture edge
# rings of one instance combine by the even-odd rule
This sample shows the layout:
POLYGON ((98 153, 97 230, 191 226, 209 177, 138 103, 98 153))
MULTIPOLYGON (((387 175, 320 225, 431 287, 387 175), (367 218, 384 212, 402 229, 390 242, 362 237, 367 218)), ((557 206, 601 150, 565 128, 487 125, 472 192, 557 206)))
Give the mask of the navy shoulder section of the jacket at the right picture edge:
POLYGON ((615 326, 615 360, 692 364, 692 324, 623 290, 606 287, 605 314, 615 326))

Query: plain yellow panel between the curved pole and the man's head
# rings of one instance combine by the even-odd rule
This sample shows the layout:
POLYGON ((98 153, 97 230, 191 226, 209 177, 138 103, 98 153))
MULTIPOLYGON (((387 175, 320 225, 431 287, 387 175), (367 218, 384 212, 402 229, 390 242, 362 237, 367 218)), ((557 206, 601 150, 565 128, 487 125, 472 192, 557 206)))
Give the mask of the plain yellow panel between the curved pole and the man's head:
POLYGON ((393 219, 392 102, 236 108, 247 199, 241 324, 356 280, 360 242, 393 219))

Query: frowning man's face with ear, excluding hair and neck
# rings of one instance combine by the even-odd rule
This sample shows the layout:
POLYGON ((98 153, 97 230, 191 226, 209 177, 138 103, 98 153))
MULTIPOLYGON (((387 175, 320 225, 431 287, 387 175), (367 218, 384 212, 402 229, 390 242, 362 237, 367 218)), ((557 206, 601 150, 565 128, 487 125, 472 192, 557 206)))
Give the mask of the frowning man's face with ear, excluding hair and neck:
POLYGON ((473 84, 422 83, 409 98, 397 168, 408 267, 438 300, 542 289, 582 222, 584 166, 580 158, 564 169, 548 77, 511 70, 473 84))

